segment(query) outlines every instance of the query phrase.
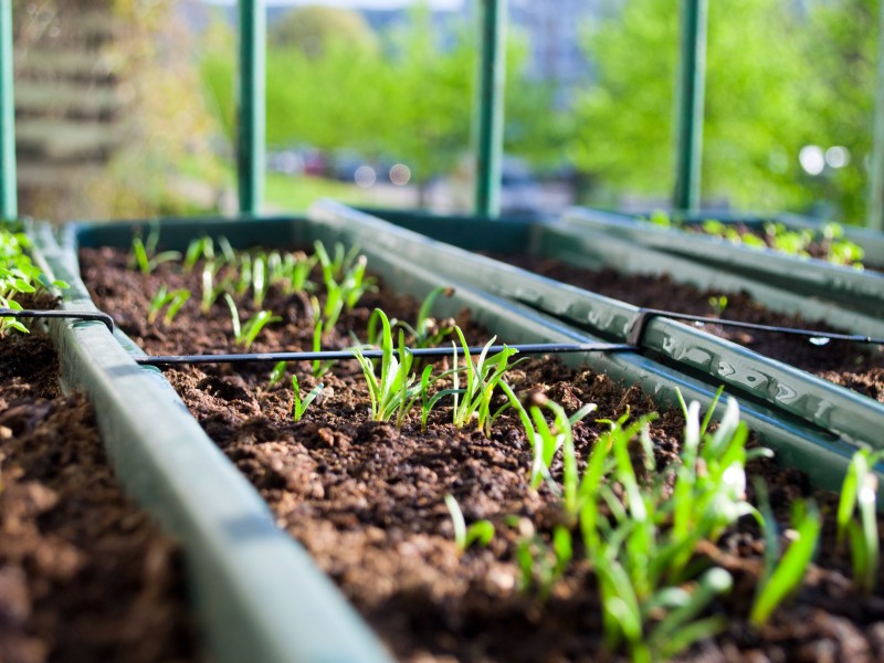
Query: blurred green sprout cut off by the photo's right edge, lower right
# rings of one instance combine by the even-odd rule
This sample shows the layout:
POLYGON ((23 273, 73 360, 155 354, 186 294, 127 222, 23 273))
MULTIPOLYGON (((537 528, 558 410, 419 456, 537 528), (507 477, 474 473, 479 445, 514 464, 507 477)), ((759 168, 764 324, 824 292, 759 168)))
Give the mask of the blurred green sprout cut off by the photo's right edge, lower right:
POLYGON ((841 499, 838 504, 838 544, 850 541, 853 579, 866 594, 875 589, 881 562, 877 530, 877 476, 873 467, 884 459, 884 451, 861 449, 850 461, 841 499), (859 522, 855 519, 859 512, 859 522))

